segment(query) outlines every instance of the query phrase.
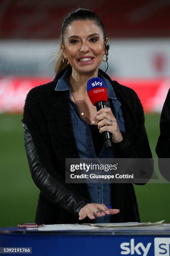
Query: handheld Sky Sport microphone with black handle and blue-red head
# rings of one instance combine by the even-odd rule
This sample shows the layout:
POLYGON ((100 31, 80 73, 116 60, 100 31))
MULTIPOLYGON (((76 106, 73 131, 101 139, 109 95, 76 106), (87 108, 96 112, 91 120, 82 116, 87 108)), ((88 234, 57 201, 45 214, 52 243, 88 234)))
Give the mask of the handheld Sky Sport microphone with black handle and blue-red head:
MULTIPOLYGON (((87 94, 92 105, 96 106, 97 111, 101 108, 105 108, 105 102, 107 102, 107 88, 100 77, 93 77, 87 81, 87 94)), ((102 134, 106 141, 106 146, 111 147, 111 133, 104 131, 102 134)))

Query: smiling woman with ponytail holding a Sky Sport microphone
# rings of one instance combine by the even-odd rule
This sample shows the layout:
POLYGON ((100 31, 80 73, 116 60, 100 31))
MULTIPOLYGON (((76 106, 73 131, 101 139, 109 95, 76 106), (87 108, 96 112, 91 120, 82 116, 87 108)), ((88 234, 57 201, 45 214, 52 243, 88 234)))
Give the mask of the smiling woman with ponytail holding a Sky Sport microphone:
POLYGON ((99 69, 108 50, 96 13, 72 11, 62 24, 55 79, 27 95, 22 121, 30 172, 40 189, 36 223, 140 221, 133 184, 65 183, 65 158, 152 157, 138 96, 99 69), (87 81, 97 76, 108 92, 107 108, 98 112, 87 96, 87 81), (110 148, 103 131, 112 134, 110 148))

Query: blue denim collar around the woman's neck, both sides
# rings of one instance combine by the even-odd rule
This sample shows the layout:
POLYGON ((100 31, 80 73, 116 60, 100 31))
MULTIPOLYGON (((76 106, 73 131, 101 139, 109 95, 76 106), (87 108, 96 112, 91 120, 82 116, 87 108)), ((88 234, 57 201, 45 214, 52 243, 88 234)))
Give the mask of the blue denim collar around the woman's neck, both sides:
MULTIPOLYGON (((68 82, 68 69, 65 71, 65 73, 60 77, 60 79, 57 82, 57 85, 55 87, 55 91, 69 91, 69 97, 71 99, 71 91, 70 91, 70 85, 68 82)), ((100 72, 98 72, 98 77, 100 77, 107 88, 107 97, 113 100, 117 100, 117 97, 115 95, 115 92, 113 90, 112 84, 110 84, 109 80, 106 79, 100 72)))

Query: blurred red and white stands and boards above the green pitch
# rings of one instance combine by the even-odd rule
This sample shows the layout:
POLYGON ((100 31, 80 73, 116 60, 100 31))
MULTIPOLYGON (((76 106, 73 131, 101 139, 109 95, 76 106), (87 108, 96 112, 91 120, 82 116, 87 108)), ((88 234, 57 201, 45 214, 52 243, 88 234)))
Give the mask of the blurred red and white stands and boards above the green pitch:
POLYGON ((1 0, 0 112, 21 113, 28 91, 54 78, 62 20, 78 7, 105 24, 107 73, 138 93, 145 112, 160 112, 170 88, 168 0, 1 0))

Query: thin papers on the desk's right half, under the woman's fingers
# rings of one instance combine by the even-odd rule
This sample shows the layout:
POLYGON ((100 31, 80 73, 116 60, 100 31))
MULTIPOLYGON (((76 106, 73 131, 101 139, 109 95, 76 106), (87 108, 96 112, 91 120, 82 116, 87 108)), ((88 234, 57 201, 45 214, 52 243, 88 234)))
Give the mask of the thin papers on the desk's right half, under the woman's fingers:
POLYGON ((151 222, 122 222, 122 223, 82 223, 81 225, 90 225, 95 227, 105 227, 105 228, 116 228, 116 227, 139 227, 139 226, 153 226, 153 225, 163 225, 165 220, 161 220, 155 223, 151 222))

